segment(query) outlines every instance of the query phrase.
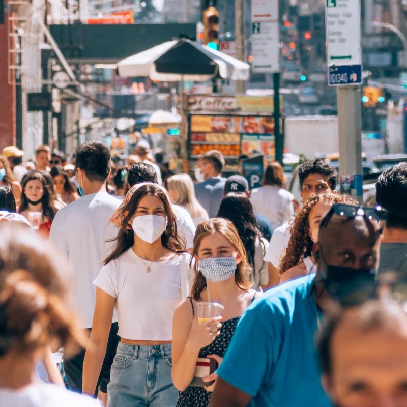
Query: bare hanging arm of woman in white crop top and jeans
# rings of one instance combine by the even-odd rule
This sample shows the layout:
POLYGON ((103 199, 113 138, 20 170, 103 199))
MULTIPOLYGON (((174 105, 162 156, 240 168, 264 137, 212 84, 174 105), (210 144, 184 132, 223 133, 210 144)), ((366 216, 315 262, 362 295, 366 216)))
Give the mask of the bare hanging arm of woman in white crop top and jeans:
POLYGON ((93 314, 92 331, 83 361, 82 391, 86 394, 93 395, 96 390, 106 354, 114 302, 114 297, 105 293, 99 287, 96 288, 96 306, 93 314))

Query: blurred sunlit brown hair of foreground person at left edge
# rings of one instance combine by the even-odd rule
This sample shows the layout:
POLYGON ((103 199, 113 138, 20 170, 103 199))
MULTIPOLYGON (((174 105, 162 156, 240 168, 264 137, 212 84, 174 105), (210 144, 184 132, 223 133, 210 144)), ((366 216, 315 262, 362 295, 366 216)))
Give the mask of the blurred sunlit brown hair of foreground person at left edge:
POLYGON ((0 357, 55 345, 72 355, 86 338, 65 306, 64 262, 22 227, 3 223, 0 234, 0 357))

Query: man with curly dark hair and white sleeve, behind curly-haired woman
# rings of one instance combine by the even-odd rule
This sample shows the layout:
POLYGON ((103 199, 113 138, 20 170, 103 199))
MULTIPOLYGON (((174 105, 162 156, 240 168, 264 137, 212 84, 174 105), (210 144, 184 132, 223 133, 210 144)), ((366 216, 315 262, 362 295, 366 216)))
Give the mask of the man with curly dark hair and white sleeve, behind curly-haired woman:
MULTIPOLYGON (((314 158, 298 167, 301 200, 306 202, 312 194, 336 193, 337 173, 335 168, 321 158, 314 158)), ((290 238, 289 222, 273 232, 265 261, 269 263, 269 286, 280 281, 280 261, 290 238)))

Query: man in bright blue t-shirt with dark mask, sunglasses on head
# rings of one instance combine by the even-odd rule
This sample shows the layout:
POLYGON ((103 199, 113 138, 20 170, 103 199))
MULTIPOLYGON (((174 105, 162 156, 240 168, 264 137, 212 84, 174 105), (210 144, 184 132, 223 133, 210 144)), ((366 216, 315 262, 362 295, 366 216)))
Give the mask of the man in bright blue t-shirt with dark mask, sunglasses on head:
POLYGON ((217 370, 211 407, 331 405, 314 337, 333 301, 352 305, 371 294, 365 288, 374 287, 379 258, 379 223, 355 208, 334 205, 322 220, 316 275, 268 290, 245 312, 217 370))

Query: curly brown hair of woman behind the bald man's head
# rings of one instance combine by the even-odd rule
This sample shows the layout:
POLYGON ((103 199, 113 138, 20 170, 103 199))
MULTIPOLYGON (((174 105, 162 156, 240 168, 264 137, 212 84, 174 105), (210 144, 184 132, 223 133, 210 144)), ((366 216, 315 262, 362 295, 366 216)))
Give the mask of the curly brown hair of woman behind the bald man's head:
POLYGON ((283 274, 290 268, 297 266, 305 257, 311 255, 314 242, 309 236, 309 214, 312 208, 321 200, 334 203, 346 203, 347 205, 358 205, 358 203, 346 196, 336 194, 317 195, 312 194, 304 203, 302 210, 297 214, 290 226, 291 237, 285 250, 285 255, 280 263, 280 273, 283 274))

